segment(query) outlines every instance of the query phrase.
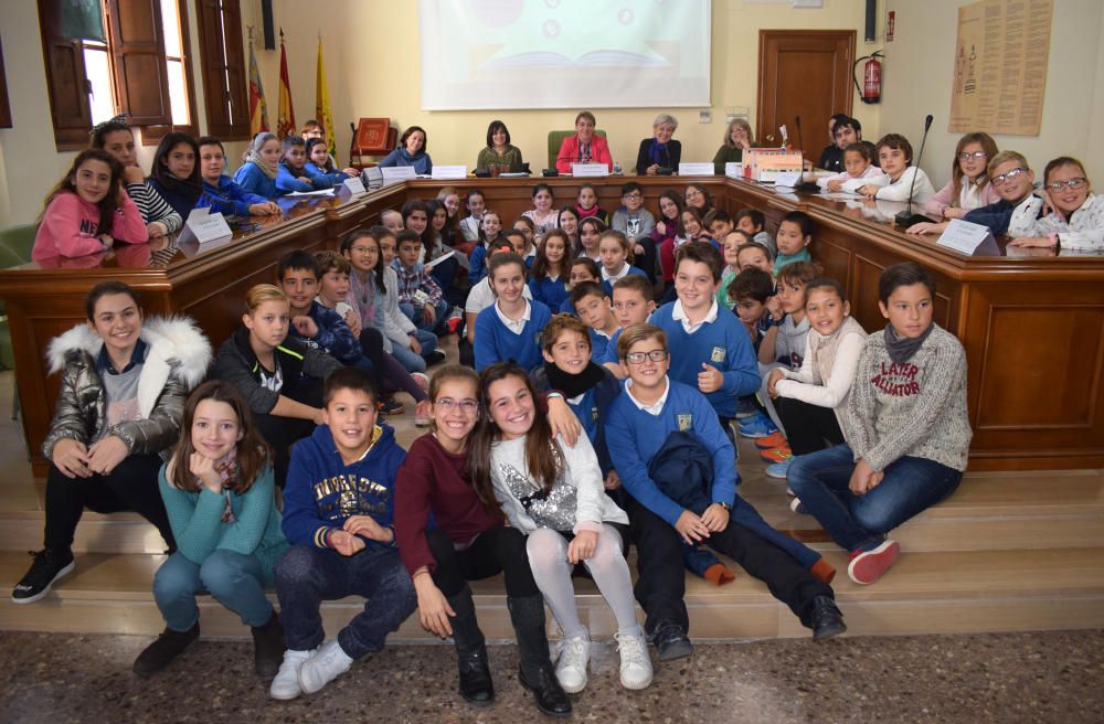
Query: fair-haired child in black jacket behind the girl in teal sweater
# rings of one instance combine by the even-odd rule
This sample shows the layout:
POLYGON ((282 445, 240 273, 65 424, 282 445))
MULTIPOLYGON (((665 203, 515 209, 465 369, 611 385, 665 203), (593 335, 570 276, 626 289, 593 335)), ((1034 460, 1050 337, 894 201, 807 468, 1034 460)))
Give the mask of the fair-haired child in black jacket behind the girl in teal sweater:
POLYGON ((225 380, 250 403, 253 422, 273 450, 276 485, 287 478, 289 449, 322 424, 322 383, 341 363, 288 337, 290 304, 270 284, 245 295, 242 326, 215 355, 211 379, 225 380))

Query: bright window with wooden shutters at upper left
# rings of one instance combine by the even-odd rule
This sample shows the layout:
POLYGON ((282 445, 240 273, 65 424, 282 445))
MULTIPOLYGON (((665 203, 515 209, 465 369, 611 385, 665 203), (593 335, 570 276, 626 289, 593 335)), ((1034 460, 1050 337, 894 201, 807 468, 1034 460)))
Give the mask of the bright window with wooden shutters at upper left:
POLYGON ((93 125, 119 113, 142 128, 146 143, 170 129, 195 135, 185 0, 83 0, 75 3, 79 10, 73 4, 39 0, 59 150, 86 146, 93 125), (81 22, 74 22, 77 13, 84 13, 81 22))

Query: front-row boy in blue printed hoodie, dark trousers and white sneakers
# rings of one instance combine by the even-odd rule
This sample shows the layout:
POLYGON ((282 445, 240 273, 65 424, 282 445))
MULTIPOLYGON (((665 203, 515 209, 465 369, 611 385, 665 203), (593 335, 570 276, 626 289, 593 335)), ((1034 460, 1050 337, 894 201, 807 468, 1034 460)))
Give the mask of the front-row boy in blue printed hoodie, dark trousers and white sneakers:
POLYGON ((291 550, 276 565, 276 595, 287 651, 273 699, 319 691, 382 649, 417 603, 391 522, 406 453, 390 427, 376 424, 375 390, 363 371, 335 372, 323 395, 323 424, 293 448, 284 492, 291 550), (319 605, 353 595, 368 599, 364 610, 322 643, 319 605))

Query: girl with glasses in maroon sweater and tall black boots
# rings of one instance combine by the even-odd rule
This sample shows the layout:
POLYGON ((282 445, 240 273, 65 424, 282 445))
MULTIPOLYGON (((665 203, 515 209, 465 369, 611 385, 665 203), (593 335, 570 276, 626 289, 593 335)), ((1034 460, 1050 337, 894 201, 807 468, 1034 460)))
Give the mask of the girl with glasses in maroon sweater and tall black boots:
MULTIPOLYGON (((544 599, 526 555, 526 537, 480 503, 468 473, 468 438, 480 415, 478 391, 479 377, 470 368, 450 364, 433 375, 432 432, 411 445, 395 485, 399 554, 414 581, 422 627, 440 638, 453 637, 466 701, 484 705, 495 698, 467 582, 501 572, 518 638, 521 683, 533 690, 542 712, 566 714, 571 701, 549 659, 544 599)), ((562 433, 565 443, 574 445, 578 420, 562 395, 549 393, 548 414, 553 435, 562 433)))

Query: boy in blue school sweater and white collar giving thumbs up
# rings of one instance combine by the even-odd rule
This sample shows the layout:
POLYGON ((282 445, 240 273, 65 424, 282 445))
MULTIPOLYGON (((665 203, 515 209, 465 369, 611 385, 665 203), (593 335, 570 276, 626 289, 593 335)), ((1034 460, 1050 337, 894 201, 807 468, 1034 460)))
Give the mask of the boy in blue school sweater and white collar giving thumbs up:
POLYGON ((671 377, 701 391, 728 430, 736 397, 754 393, 761 381, 751 339, 735 316, 716 304, 720 280, 716 247, 708 242, 683 244, 675 257, 678 299, 657 309, 651 323, 678 350, 670 361, 671 377))

